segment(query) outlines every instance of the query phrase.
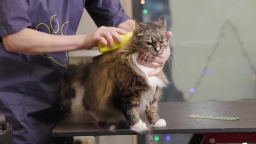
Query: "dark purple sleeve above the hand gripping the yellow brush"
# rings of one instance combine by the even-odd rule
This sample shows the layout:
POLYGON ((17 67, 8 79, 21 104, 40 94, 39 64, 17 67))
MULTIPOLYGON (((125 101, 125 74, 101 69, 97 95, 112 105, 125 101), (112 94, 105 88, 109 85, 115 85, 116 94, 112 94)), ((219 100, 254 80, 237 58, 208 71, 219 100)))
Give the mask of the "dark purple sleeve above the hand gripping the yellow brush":
POLYGON ((119 0, 86 0, 85 9, 97 27, 117 27, 122 22, 131 19, 125 14, 119 0))

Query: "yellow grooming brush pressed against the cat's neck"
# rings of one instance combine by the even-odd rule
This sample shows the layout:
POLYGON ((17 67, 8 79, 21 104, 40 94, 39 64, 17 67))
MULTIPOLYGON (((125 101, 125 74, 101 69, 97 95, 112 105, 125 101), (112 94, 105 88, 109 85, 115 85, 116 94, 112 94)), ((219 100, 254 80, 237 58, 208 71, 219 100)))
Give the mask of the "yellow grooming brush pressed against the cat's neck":
POLYGON ((133 32, 128 32, 127 35, 120 35, 122 43, 118 43, 114 40, 114 47, 111 48, 109 44, 105 47, 102 43, 98 43, 99 52, 105 53, 107 51, 113 51, 117 48, 121 48, 125 43, 127 43, 130 38, 133 36, 133 32))

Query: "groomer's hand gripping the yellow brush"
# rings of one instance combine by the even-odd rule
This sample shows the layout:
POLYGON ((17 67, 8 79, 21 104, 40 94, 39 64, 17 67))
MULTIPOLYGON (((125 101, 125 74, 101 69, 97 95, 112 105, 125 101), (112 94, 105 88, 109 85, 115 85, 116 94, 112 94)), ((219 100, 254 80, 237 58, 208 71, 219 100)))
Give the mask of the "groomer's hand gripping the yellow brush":
POLYGON ((104 46, 107 46, 107 44, 110 45, 110 47, 114 46, 114 39, 121 43, 121 37, 120 35, 126 35, 127 31, 117 28, 117 27, 99 27, 95 31, 91 32, 87 35, 85 38, 85 45, 86 49, 91 49, 97 45, 97 43, 101 42, 104 46))

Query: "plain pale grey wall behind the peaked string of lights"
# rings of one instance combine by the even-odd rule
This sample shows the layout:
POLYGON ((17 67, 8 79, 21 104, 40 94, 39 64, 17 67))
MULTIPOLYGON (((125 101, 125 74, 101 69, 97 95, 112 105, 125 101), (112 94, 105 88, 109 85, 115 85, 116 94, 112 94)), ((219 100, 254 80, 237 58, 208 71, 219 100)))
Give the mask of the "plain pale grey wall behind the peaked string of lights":
MULTIPOLYGON (((173 80, 188 97, 220 33, 225 16, 237 28, 256 66, 256 0, 171 0, 173 16, 171 44, 177 66, 173 80)), ((230 26, 224 29, 219 47, 192 101, 256 98, 256 81, 230 26)))

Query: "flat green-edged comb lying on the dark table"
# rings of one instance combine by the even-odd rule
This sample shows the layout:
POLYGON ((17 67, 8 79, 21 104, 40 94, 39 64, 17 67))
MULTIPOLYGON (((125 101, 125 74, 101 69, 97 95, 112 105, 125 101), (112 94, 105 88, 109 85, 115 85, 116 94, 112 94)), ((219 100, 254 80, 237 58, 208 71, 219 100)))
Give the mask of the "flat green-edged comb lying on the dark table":
POLYGON ((201 115, 201 114, 192 114, 189 117, 195 118, 205 118, 213 120, 239 120, 239 117, 229 117, 229 116, 219 116, 219 115, 201 115))

